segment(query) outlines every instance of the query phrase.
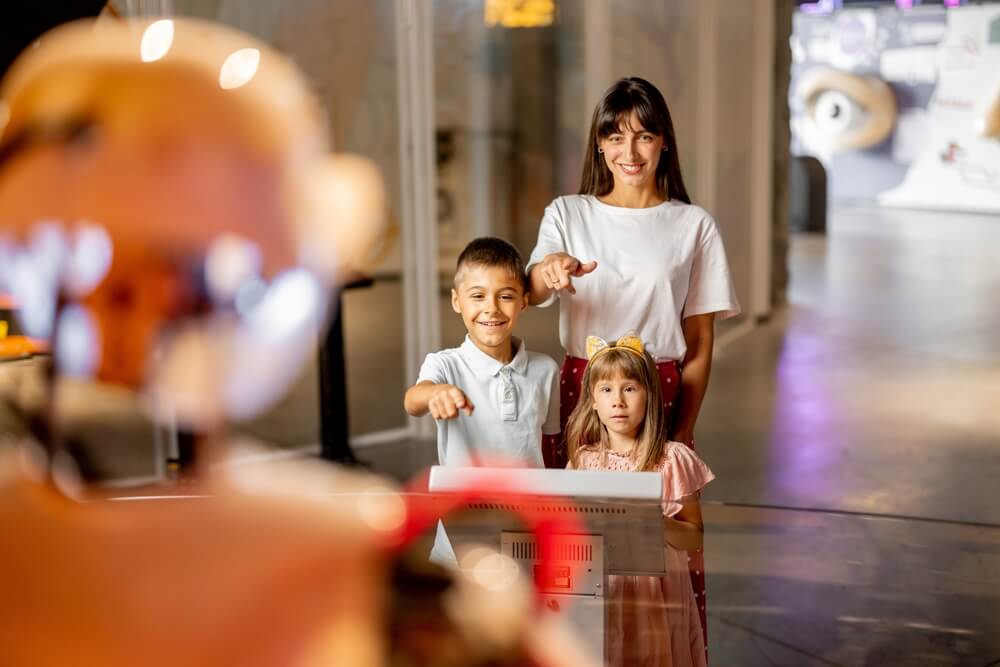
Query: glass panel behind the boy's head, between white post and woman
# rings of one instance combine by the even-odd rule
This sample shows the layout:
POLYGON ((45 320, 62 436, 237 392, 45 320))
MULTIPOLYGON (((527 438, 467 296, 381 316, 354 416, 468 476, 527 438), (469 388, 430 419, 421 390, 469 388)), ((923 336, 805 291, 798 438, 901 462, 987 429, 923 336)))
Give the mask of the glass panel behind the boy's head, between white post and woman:
MULTIPOLYGON (((585 128, 573 100, 579 8, 566 5, 553 25, 509 28, 487 25, 483 0, 434 3, 444 346, 465 335, 448 298, 462 248, 477 236, 499 236, 527 259, 545 206, 575 188, 585 128)), ((518 329, 531 349, 561 358, 557 308, 528 309, 518 329)))

